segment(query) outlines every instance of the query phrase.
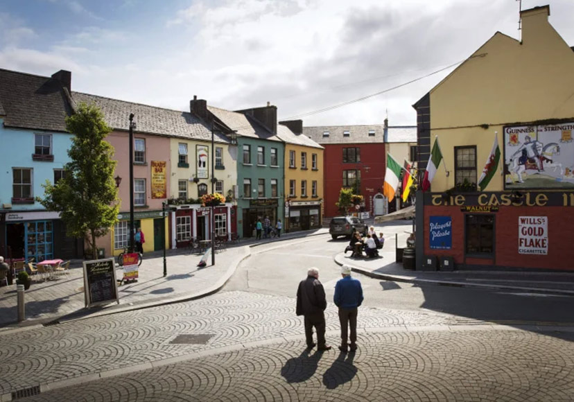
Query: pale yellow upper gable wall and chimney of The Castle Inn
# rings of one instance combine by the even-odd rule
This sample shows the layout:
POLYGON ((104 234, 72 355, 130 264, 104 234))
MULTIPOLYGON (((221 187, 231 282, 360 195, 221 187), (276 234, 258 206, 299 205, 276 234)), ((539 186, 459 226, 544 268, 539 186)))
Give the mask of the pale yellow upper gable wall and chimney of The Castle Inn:
MULTIPOLYGON (((523 42, 496 33, 431 91, 431 148, 435 136, 446 168, 439 166, 433 191, 455 185, 454 147, 476 145, 477 180, 503 125, 574 116, 574 52, 548 22, 546 8, 523 12, 523 42), (488 128, 480 125, 487 124, 488 128)), ((503 165, 503 157, 501 162, 503 165)), ((501 191, 494 175, 487 191, 501 191)))

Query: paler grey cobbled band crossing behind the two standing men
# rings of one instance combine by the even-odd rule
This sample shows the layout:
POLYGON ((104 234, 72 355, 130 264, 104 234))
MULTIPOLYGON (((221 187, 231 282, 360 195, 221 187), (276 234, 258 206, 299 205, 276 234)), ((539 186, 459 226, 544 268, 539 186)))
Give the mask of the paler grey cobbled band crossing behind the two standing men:
MULTIPOLYGON (((358 326, 406 329, 481 323, 438 313, 361 308, 358 326)), ((329 304, 327 330, 337 329, 337 312, 329 304)), ((294 298, 240 291, 53 326, 4 331, 0 333, 0 395, 206 349, 290 335, 298 339, 303 333, 302 319, 295 315, 294 298), (177 335, 185 334, 212 336, 207 344, 171 343, 177 335)))

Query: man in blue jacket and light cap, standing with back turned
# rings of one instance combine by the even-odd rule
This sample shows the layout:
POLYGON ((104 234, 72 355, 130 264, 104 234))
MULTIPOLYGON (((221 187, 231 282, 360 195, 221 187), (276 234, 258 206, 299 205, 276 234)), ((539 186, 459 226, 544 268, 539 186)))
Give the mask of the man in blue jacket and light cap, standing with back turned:
POLYGON ((351 278, 351 267, 341 267, 342 279, 335 285, 333 301, 339 308, 339 322, 341 324, 341 346, 339 350, 347 353, 347 338, 350 338, 351 351, 357 350, 357 308, 363 303, 363 288, 358 279, 351 278), (349 335, 350 328, 350 337, 349 335))

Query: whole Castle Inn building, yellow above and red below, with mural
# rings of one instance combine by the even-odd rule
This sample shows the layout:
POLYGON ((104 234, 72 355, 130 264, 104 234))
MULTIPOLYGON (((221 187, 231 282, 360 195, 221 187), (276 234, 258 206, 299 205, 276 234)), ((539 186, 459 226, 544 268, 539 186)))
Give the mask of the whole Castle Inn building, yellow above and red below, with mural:
POLYGON ((417 265, 572 270, 574 52, 549 15, 523 10, 521 40, 495 33, 414 105, 419 168, 435 141, 444 158, 417 194, 417 265))

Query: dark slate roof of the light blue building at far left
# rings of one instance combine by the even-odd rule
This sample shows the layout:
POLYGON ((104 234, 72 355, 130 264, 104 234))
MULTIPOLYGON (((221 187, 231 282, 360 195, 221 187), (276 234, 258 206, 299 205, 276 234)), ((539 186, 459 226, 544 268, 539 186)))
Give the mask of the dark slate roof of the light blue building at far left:
POLYGON ((0 69, 0 115, 6 127, 65 132, 64 118, 71 112, 60 80, 0 69))

